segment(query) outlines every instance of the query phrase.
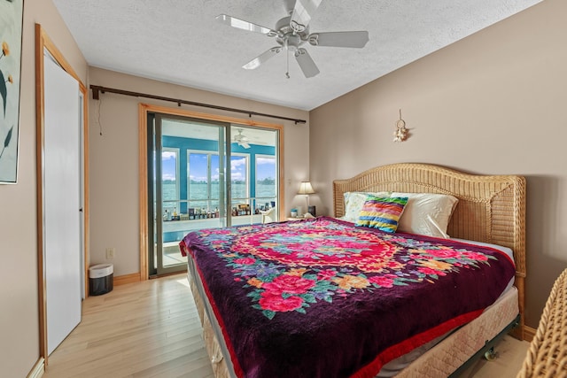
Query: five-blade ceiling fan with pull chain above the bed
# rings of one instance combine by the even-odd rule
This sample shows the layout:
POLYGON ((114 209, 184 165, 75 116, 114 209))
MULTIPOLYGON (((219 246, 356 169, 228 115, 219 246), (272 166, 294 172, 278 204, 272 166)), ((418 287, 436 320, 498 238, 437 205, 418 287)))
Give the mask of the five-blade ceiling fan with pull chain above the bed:
MULTIPOLYGON (((350 47, 359 49, 364 47, 366 42, 369 42, 368 31, 310 34, 309 21, 314 16, 322 0, 283 0, 283 2, 289 16, 277 21, 276 27, 273 29, 253 24, 244 19, 237 19, 228 14, 221 14, 216 17, 218 21, 229 27, 237 27, 239 29, 268 35, 270 38, 276 38, 277 46, 253 58, 250 62, 242 66, 243 68, 247 70, 258 68, 269 58, 285 50, 285 52, 293 53, 303 74, 305 74, 307 78, 310 78, 319 73, 319 68, 317 68, 315 61, 311 58, 307 50, 302 47, 306 42, 309 42, 312 46, 350 47)), ((289 54, 286 54, 286 56, 288 70, 285 76, 289 79, 289 54)))

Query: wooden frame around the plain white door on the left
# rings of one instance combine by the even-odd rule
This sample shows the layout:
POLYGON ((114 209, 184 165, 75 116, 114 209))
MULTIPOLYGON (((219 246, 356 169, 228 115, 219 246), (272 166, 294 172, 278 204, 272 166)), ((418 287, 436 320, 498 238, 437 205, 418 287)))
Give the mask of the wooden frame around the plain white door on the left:
POLYGON ((38 298, 39 298, 39 349, 40 359, 43 358, 44 365, 48 365, 47 353, 47 297, 45 288, 45 263, 43 261, 43 153, 44 153, 44 89, 43 89, 43 50, 50 52, 51 56, 58 62, 66 73, 69 73, 79 83, 79 90, 82 93, 82 146, 80 155, 82 166, 80 177, 82 178, 82 248, 83 256, 83 278, 84 278, 84 297, 89 293, 89 122, 88 122, 88 96, 87 87, 81 81, 74 69, 66 61, 61 51, 51 41, 49 35, 45 33, 40 24, 35 24, 35 124, 36 124, 36 181, 37 181, 37 274, 38 274, 38 298))

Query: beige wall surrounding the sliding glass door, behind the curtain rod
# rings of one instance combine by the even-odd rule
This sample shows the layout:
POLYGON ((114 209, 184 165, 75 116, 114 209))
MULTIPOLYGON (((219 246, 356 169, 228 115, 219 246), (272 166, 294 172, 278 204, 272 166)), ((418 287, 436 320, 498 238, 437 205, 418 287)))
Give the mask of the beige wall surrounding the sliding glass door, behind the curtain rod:
MULTIPOLYGON (((205 104, 245 109, 308 120, 307 112, 276 105, 261 104, 232 96, 223 96, 160 81, 151 81, 123 73, 90 68, 92 85, 126 89, 156 96, 168 96, 205 104)), ((116 249, 114 275, 139 272, 139 210, 138 210, 138 104, 159 104, 176 108, 176 104, 156 102, 146 98, 101 94, 100 101, 89 101, 90 142, 90 262, 107 262, 107 247, 116 249), (100 135, 102 129, 103 135, 100 135)), ((183 109, 229 117, 245 118, 234 112, 219 112, 183 105, 183 109)), ((254 120, 283 124, 285 175, 284 201, 287 209, 302 204, 296 196, 299 181, 308 179, 309 128, 291 121, 271 118, 254 120)))

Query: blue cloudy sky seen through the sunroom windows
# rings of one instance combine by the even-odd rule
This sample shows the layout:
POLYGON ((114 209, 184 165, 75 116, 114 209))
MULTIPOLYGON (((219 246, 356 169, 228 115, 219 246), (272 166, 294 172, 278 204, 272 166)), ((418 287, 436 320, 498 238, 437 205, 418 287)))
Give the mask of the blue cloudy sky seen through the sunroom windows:
MULTIPOLYGON (((246 157, 233 156, 230 159, 232 180, 246 180, 246 157)), ((253 164, 253 162, 251 162, 253 164)), ((275 158, 256 158, 257 172, 256 180, 266 178, 276 178, 276 160, 275 158)), ((190 154, 190 179, 196 181, 206 181, 206 154, 191 153, 190 154)), ((175 180, 175 152, 162 152, 162 176, 164 180, 175 180)), ((211 178, 218 180, 219 178, 219 158, 213 156, 211 158, 211 178)), ((180 174, 183 174, 180 172, 180 174)))

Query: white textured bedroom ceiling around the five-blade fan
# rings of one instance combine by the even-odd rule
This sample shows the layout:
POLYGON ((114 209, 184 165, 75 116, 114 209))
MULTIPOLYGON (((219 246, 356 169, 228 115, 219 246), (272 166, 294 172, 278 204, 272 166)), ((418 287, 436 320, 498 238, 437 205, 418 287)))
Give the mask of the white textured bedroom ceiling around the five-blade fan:
POLYGON ((274 28, 287 15, 284 0, 53 3, 90 66, 309 111, 540 1, 323 0, 311 33, 368 30, 369 42, 363 49, 307 44, 321 71, 310 79, 292 57, 286 79, 284 53, 256 70, 241 68, 274 39, 214 19, 226 13, 274 28))

